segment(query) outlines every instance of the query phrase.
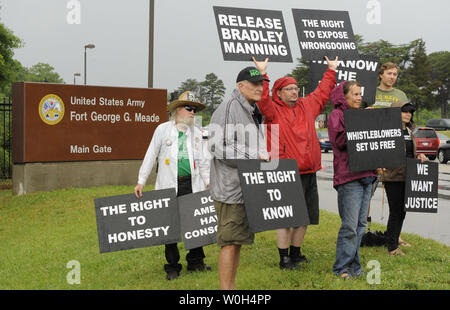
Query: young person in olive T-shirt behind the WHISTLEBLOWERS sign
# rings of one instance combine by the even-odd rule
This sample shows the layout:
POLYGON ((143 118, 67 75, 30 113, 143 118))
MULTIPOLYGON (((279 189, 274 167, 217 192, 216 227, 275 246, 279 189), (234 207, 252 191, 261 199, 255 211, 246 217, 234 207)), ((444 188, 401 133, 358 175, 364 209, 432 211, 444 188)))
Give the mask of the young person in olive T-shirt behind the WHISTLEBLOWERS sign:
POLYGON ((380 66, 378 70, 380 84, 377 87, 373 107, 389 108, 394 102, 408 101, 404 92, 393 87, 397 81, 398 70, 399 67, 392 62, 386 62, 380 66))

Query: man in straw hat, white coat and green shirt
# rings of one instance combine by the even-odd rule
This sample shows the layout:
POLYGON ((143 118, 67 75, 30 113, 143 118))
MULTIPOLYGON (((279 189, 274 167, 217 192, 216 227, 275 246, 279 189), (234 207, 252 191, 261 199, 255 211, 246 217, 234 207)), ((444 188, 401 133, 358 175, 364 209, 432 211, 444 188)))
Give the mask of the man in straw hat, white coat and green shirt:
MULTIPOLYGON (((186 91, 171 102, 167 109, 171 114, 168 122, 160 124, 152 137, 144 161, 139 169, 135 195, 142 197, 142 189, 153 168, 158 163, 155 190, 175 188, 177 196, 200 192, 209 186, 209 160, 205 157, 206 144, 202 133, 194 126, 194 115, 205 105, 197 102, 195 95, 186 91)), ((182 265, 176 243, 165 245, 167 264, 166 279, 178 278, 182 265)), ((191 249, 186 255, 187 269, 206 271, 211 268, 203 262, 203 248, 191 249)))

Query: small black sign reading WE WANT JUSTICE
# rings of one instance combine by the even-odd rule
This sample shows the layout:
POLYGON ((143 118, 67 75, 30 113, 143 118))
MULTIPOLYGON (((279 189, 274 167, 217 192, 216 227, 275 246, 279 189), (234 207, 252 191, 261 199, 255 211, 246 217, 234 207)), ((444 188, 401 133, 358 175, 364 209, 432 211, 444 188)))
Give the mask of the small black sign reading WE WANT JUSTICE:
POLYGON ((437 213, 439 164, 408 158, 406 161, 405 209, 437 213))

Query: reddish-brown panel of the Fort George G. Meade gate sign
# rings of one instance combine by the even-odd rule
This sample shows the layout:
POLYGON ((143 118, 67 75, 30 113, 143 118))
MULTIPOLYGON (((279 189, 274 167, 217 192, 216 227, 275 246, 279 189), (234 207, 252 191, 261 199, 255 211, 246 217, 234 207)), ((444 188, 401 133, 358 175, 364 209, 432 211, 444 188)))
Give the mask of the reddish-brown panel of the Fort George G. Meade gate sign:
POLYGON ((142 159, 166 107, 165 89, 14 83, 13 161, 142 159))

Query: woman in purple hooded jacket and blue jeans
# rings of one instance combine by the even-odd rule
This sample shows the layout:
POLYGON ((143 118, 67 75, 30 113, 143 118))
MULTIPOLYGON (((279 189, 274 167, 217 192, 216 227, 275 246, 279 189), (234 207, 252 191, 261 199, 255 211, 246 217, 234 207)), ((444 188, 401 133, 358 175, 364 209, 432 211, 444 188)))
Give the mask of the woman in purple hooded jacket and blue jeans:
POLYGON ((348 165, 344 111, 361 108, 361 85, 356 81, 342 82, 333 89, 330 100, 334 105, 328 119, 328 135, 334 155, 333 187, 338 192, 342 221, 333 272, 348 279, 364 273, 359 260, 359 246, 366 230, 367 210, 376 172, 350 172, 348 165))

